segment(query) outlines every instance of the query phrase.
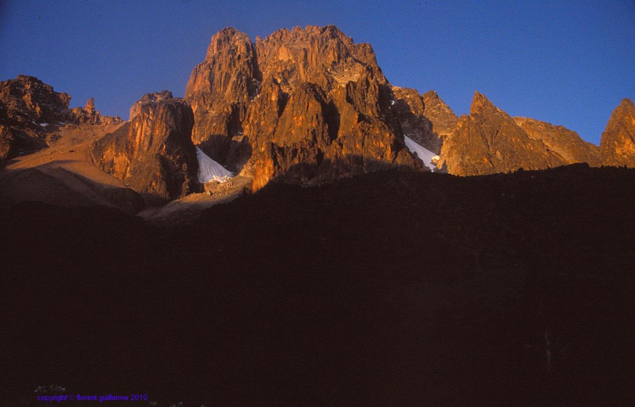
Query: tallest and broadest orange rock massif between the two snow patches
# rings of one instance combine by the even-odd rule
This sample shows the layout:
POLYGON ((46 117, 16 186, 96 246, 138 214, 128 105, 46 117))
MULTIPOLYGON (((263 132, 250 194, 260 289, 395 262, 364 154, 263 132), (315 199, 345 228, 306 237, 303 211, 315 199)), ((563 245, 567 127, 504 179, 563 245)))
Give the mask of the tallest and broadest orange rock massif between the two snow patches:
POLYGON ((212 37, 192 71, 192 140, 231 171, 306 182, 386 165, 422 169, 406 150, 392 90, 368 44, 336 27, 277 30, 256 43, 212 37))

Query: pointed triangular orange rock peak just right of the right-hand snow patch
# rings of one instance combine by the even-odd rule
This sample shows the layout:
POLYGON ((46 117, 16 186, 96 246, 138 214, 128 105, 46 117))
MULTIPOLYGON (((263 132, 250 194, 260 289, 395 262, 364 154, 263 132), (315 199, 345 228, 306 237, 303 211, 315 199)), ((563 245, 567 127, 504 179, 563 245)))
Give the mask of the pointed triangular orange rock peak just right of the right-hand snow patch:
POLYGON ((538 170, 566 164, 540 140, 531 138, 514 119, 476 92, 469 116, 458 119, 446 137, 439 168, 455 175, 538 170))

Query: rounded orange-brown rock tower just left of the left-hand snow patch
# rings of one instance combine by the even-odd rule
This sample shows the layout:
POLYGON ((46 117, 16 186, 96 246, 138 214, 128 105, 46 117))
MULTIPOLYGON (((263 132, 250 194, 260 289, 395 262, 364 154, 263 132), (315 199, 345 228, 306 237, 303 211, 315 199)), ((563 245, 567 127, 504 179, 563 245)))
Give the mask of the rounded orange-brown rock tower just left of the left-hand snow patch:
POLYGON ((133 109, 131 121, 91 146, 93 161, 150 204, 198 192, 189 104, 163 91, 145 95, 133 109))

